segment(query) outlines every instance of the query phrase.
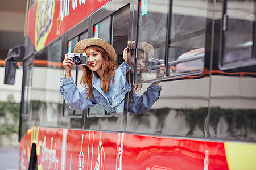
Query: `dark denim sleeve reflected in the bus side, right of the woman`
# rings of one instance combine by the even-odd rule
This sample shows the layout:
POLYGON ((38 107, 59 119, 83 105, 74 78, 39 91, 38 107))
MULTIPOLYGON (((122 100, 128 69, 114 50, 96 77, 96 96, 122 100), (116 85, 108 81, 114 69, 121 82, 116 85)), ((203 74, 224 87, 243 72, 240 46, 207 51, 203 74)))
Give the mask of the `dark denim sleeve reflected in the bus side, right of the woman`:
MULTIPOLYGON (((128 112, 135 114, 145 114, 152 105, 159 99, 162 86, 151 84, 142 95, 134 93, 134 100, 128 103, 128 112)), ((125 104, 125 107, 127 104, 125 104)), ((125 108, 126 109, 126 108, 125 108)))

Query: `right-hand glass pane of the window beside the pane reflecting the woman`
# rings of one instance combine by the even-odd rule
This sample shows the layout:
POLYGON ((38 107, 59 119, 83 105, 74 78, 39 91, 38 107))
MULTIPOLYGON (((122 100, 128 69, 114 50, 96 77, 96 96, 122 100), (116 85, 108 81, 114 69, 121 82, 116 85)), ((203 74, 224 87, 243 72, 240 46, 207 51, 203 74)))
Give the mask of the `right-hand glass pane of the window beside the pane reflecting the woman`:
POLYGON ((169 76, 199 74, 204 68, 206 0, 173 1, 169 37, 169 76))

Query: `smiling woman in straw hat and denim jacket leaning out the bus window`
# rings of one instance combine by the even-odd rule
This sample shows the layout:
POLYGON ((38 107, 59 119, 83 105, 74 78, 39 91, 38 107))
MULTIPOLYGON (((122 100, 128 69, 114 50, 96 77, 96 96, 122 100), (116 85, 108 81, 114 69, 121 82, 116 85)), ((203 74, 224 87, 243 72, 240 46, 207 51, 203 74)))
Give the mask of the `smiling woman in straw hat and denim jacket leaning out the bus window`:
POLYGON ((110 113, 122 113, 128 92, 125 76, 130 67, 126 63, 117 67, 113 46, 102 39, 81 40, 77 42, 74 52, 85 52, 87 65, 82 66, 81 85, 84 88, 79 91, 71 76, 72 58, 66 54, 63 61, 66 76, 60 78, 60 92, 69 107, 84 110, 99 104, 110 113))

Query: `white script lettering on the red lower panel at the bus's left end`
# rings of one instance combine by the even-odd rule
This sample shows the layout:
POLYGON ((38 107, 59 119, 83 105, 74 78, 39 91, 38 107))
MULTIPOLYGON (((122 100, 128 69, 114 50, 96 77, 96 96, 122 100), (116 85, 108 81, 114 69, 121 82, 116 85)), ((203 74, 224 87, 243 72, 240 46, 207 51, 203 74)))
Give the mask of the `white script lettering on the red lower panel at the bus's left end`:
MULTIPOLYGON (((48 169, 51 169, 51 164, 54 164, 54 169, 58 169, 59 160, 56 157, 56 149, 53 149, 53 137, 51 138, 51 148, 46 147, 46 136, 44 136, 44 142, 42 144, 42 162, 48 161, 49 166, 48 169)), ((54 143, 54 147, 56 148, 56 142, 54 143)))

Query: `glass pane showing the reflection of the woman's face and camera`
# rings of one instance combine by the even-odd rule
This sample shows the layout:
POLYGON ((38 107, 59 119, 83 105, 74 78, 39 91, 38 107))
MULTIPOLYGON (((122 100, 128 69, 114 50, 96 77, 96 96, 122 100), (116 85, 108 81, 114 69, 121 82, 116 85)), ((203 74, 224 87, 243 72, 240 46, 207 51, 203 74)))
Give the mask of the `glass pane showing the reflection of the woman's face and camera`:
POLYGON ((165 75, 164 57, 168 6, 169 1, 143 0, 141 3, 138 42, 131 43, 131 60, 134 57, 135 44, 137 44, 138 52, 135 82, 156 79, 165 75))

